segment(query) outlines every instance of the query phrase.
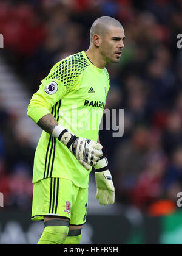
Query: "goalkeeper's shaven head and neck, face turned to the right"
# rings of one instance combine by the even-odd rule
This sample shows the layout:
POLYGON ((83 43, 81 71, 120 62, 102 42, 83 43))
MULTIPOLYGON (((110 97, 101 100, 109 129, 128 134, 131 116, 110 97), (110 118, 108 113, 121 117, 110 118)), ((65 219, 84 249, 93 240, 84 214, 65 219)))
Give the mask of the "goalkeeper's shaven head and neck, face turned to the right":
POLYGON ((124 48, 124 28, 109 16, 94 21, 90 29, 90 45, 86 54, 103 69, 108 63, 118 63, 124 48))

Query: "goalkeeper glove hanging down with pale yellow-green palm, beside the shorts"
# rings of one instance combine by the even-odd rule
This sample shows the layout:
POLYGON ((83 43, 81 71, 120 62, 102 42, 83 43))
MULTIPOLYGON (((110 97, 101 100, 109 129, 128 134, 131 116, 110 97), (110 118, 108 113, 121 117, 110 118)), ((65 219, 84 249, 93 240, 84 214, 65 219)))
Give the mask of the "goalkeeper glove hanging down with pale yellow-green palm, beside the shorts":
POLYGON ((96 199, 99 204, 107 205, 115 202, 115 187, 108 169, 107 158, 102 155, 95 168, 96 199))

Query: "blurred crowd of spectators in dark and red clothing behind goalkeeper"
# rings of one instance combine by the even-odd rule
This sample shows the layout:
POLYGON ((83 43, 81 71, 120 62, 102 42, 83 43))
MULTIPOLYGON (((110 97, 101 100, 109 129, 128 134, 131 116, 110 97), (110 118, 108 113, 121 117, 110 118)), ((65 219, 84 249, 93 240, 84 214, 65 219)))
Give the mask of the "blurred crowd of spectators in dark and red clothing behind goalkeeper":
MULTIPOLYGON (((118 19, 126 34, 120 64, 107 67, 106 104, 124 109, 124 135, 100 132, 116 201, 152 215, 162 214, 160 204, 170 212, 182 191, 181 0, 0 1, 4 57, 34 93, 56 62, 87 50, 90 26, 99 16, 118 19)), ((0 190, 29 202, 33 149, 25 140, 9 143, 4 127, 13 118, 0 108, 0 190)), ((20 204, 14 197, 8 204, 20 204)))

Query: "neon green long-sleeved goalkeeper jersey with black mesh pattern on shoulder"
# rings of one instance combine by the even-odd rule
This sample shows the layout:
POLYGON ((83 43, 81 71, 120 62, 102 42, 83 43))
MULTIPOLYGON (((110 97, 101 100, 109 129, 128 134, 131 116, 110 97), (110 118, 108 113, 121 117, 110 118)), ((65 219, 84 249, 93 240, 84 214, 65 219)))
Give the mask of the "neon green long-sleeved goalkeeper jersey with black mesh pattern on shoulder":
MULTIPOLYGON (((77 137, 97 141, 108 90, 106 68, 94 66, 82 51, 53 66, 33 94, 28 116, 37 123, 42 116, 52 113, 58 123, 77 137)), ((87 188, 90 171, 61 141, 42 132, 35 152, 33 183, 62 177, 72 180, 78 187, 87 188)))

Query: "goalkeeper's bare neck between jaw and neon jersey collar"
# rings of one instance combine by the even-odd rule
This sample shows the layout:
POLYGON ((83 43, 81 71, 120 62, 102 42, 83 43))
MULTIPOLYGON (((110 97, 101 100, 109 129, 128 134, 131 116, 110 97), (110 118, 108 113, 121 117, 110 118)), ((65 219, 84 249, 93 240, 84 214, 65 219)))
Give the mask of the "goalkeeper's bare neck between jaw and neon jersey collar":
POLYGON ((86 55, 89 58, 90 62, 95 65, 97 68, 104 69, 107 65, 107 62, 103 60, 103 56, 99 51, 95 51, 95 49, 90 48, 86 51, 86 55))

